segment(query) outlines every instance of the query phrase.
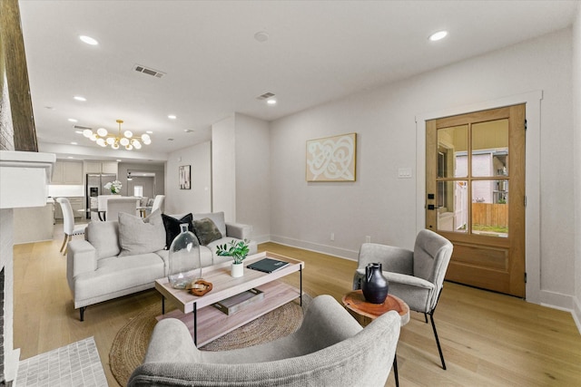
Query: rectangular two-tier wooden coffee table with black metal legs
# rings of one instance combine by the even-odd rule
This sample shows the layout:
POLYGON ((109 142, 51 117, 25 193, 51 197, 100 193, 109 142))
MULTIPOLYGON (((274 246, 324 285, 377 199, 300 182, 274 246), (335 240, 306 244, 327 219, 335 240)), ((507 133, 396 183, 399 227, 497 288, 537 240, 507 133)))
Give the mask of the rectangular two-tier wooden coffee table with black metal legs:
POLYGON ((167 277, 157 279, 155 289, 163 297, 162 315, 157 319, 172 317, 182 320, 190 328, 193 343, 202 346, 296 298, 300 298, 300 305, 302 305, 302 268, 304 266, 305 264, 297 259, 262 252, 244 259, 244 276, 241 277, 234 278, 230 275, 231 262, 203 267, 202 277, 205 281, 212 283, 212 291, 202 296, 192 295, 187 290, 172 288, 172 285, 168 284, 167 277), (265 257, 289 262, 290 265, 274 273, 262 273, 246 267, 265 257), (299 288, 278 281, 281 277, 296 272, 300 273, 299 288), (252 288, 264 292, 264 298, 236 314, 224 314, 212 306, 218 301, 252 288), (165 314, 166 298, 177 305, 178 309, 165 314))

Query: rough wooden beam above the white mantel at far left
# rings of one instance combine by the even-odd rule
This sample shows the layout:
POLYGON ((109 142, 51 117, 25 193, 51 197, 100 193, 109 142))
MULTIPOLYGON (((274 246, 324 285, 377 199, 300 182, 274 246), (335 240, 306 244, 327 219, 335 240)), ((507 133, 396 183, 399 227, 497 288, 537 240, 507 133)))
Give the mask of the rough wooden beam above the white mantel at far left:
POLYGON ((3 60, 15 131, 15 150, 38 151, 17 0, 0 0, 0 41, 5 55, 3 60))

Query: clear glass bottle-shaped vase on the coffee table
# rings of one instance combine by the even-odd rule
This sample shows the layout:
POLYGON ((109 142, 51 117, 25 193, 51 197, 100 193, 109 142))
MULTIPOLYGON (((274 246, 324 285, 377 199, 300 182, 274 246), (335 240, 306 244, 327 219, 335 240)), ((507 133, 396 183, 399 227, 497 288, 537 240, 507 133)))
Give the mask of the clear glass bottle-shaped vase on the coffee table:
POLYGON ((202 279, 202 258, 198 238, 188 231, 188 224, 180 225, 180 235, 175 237, 169 249, 167 279, 175 289, 202 279))

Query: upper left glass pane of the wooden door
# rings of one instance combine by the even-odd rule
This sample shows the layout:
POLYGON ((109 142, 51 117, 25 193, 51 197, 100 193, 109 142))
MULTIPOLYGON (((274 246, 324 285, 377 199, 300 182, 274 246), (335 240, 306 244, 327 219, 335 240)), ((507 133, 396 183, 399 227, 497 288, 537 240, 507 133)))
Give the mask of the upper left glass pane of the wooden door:
POLYGON ((468 125, 438 129, 438 178, 468 176, 468 125))

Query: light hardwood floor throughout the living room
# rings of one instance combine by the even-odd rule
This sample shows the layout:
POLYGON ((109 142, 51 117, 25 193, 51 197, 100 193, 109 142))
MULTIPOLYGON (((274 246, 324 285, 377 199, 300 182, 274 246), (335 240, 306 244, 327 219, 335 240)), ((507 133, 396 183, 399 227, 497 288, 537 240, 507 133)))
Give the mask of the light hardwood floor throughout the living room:
MULTIPOLYGON (((148 290, 89 306, 81 323, 58 252, 62 237, 57 225, 53 242, 15 246, 15 348, 27 359, 94 336, 107 381, 117 386, 109 368, 113 338, 144 306, 161 309, 160 295, 148 290)), ((303 260, 303 286, 312 296, 340 301, 350 291, 356 262, 272 243, 259 249, 303 260)), ((569 313, 446 283, 435 319, 448 370, 431 326, 412 312, 398 345, 402 387, 581 385, 581 334, 569 313)), ((393 372, 386 385, 395 385, 393 372)))

